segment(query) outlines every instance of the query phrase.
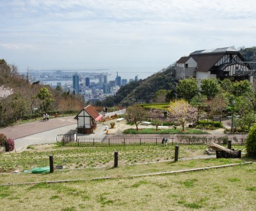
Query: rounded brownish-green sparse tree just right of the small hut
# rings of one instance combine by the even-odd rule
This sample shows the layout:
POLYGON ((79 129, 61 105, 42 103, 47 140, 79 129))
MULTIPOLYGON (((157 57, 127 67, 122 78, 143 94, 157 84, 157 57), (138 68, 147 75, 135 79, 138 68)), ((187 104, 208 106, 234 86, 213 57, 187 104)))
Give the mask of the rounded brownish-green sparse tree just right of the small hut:
POLYGON ((126 109, 125 119, 130 123, 134 123, 136 125, 136 130, 138 130, 138 125, 141 121, 145 120, 147 116, 147 110, 143 109, 139 105, 131 105, 126 109))

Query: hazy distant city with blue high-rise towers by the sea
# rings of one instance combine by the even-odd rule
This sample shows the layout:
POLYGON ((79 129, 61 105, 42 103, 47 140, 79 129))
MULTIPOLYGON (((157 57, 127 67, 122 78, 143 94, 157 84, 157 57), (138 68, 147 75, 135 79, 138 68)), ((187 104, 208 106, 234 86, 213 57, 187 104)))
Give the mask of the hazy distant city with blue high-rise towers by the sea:
MULTIPOLYGON (((23 74, 26 77, 26 74, 23 74)), ((31 70, 29 72, 30 82, 40 82, 40 84, 49 85, 52 88, 60 86, 63 91, 70 93, 79 93, 83 95, 86 102, 92 104, 98 100, 104 100, 106 97, 111 97, 120 89, 121 86, 138 81, 138 75, 134 79, 122 79, 121 75, 116 76, 104 72, 74 72, 63 70, 31 70), (110 80, 109 80, 110 78, 110 80)))

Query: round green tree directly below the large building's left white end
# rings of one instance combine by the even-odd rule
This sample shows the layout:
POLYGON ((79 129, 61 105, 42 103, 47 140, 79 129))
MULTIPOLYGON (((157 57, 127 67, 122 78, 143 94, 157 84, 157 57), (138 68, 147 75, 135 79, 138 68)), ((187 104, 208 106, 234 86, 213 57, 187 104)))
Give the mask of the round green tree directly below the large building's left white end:
POLYGON ((177 94, 185 100, 191 100, 198 93, 198 84, 195 78, 183 79, 176 87, 177 94))

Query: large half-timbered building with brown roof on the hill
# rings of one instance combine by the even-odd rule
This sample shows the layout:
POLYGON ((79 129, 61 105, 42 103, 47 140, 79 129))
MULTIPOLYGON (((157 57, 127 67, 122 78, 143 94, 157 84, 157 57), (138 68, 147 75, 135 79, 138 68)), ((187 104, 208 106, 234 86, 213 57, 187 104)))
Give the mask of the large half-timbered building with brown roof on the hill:
POLYGON ((252 71, 243 56, 236 49, 220 49, 191 52, 177 61, 175 79, 177 81, 195 77, 196 79, 225 79, 231 81, 248 79, 252 82, 252 71))

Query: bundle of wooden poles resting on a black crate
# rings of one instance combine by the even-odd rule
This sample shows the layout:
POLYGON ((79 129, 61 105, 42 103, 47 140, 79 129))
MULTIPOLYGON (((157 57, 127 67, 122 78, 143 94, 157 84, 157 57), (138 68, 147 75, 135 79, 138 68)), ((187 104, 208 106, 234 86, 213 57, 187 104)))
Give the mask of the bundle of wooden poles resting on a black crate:
POLYGON ((216 158, 241 158, 241 150, 230 150, 215 143, 206 143, 212 150, 216 150, 216 158))

